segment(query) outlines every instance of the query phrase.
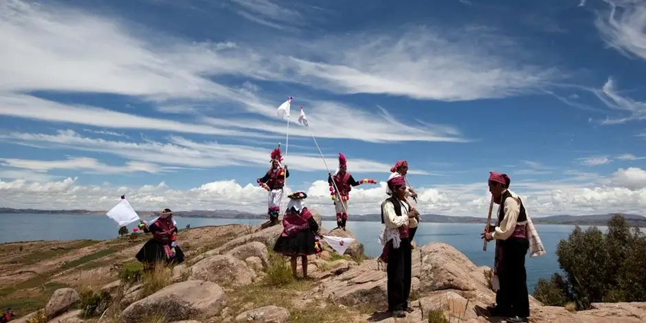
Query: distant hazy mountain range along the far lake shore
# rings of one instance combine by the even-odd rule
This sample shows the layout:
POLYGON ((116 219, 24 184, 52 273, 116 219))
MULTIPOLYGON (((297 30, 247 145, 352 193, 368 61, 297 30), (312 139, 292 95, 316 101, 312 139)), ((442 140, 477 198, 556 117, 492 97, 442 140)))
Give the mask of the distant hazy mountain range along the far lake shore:
MULTIPOLYGON (((87 214, 104 215, 106 211, 89 210, 36 210, 36 209, 13 209, 0 208, 0 214, 87 214)), ((156 212, 137 211, 142 216, 154 216, 156 212)), ((267 219, 266 214, 255 214, 235 210, 214 210, 214 211, 179 211, 173 212, 175 216, 194 218, 218 218, 218 219, 267 219)), ((614 214, 597 215, 553 215, 533 217, 532 221, 537 224, 562 224, 562 225, 606 225, 614 214)), ((636 214, 621 214, 631 225, 646 227, 646 216, 636 214)), ((323 220, 335 221, 335 216, 321 216, 323 220)), ((476 216, 446 216, 439 214, 423 214, 423 222, 427 223, 485 223, 485 217, 476 216)), ((373 221, 380 222, 381 214, 351 215, 351 221, 373 221)))

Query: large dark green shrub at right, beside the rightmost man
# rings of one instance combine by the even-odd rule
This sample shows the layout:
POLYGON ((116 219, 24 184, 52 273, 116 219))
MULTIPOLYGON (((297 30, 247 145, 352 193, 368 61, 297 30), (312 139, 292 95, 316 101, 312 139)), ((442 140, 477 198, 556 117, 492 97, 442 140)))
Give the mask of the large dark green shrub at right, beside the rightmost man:
POLYGON ((539 280, 534 296, 552 306, 574 302, 579 310, 590 309, 593 302, 644 302, 645 254, 646 236, 621 215, 608 221, 606 234, 577 226, 557 247, 564 275, 539 280))

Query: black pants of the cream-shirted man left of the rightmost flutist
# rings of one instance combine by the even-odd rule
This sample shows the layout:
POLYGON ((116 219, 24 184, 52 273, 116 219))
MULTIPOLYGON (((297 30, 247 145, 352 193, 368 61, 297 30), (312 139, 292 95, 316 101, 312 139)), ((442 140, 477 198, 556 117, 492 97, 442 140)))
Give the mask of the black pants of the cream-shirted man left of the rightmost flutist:
POLYGON ((404 311, 408 307, 412 278, 410 239, 401 239, 397 249, 392 247, 392 243, 388 248, 388 311, 404 311))

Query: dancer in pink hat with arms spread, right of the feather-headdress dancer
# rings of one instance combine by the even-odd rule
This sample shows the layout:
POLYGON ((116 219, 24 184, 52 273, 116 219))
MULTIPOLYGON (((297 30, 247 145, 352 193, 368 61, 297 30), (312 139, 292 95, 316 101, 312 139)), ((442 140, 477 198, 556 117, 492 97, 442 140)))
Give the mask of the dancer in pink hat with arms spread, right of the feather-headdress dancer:
POLYGON ((354 177, 348 172, 348 164, 343 154, 339 153, 339 169, 334 175, 328 174, 328 183, 331 189, 335 190, 334 210, 337 213, 337 227, 345 231, 346 222, 348 221, 350 190, 352 190, 353 186, 359 186, 361 183, 355 181, 354 177))

